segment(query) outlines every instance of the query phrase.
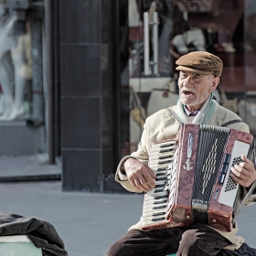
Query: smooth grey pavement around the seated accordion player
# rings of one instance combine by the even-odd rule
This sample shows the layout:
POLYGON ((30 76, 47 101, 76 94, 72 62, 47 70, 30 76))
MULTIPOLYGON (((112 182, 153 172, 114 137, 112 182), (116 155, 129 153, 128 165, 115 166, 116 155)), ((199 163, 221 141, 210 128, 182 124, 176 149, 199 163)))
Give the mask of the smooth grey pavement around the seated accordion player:
MULTIPOLYGON (((61 182, 0 183, 0 210, 46 219, 64 240, 69 256, 103 256, 138 221, 143 195, 62 192, 61 182)), ((256 248, 256 205, 244 208, 240 232, 256 248)))

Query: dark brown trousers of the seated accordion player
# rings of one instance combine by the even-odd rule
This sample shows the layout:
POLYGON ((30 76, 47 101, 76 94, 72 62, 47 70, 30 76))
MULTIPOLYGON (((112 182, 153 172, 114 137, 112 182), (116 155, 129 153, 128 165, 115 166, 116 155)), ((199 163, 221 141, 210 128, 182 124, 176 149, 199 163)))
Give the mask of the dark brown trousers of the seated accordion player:
POLYGON ((256 256, 256 250, 243 243, 239 250, 226 251, 229 245, 214 229, 205 225, 189 228, 155 229, 151 231, 130 230, 117 240, 106 256, 256 256))

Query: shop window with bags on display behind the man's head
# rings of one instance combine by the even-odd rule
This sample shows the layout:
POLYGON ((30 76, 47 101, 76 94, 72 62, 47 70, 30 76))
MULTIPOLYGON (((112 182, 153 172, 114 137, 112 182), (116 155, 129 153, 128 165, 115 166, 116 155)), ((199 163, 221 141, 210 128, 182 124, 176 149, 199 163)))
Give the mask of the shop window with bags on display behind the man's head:
POLYGON ((195 50, 224 64, 217 101, 256 135, 256 0, 123 0, 121 157, 137 149, 145 118, 178 98, 176 59, 195 50))

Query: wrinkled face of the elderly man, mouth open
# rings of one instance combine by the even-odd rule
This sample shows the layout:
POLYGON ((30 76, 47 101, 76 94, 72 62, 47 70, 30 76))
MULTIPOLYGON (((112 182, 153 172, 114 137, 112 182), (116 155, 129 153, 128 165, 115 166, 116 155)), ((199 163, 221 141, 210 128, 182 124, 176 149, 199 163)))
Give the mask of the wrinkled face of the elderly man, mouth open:
POLYGON ((197 111, 208 100, 219 84, 219 78, 199 75, 194 72, 180 71, 178 79, 180 101, 188 110, 197 111))

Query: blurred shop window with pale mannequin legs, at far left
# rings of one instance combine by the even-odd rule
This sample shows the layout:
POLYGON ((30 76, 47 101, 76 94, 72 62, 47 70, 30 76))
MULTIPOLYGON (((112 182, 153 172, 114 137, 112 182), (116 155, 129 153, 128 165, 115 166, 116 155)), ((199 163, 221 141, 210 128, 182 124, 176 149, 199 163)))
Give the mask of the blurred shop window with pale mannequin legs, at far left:
POLYGON ((43 6, 0 0, 0 156, 46 151, 43 6))

